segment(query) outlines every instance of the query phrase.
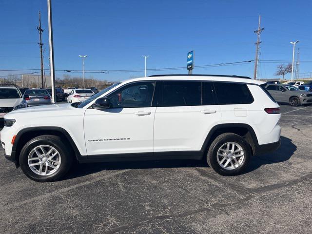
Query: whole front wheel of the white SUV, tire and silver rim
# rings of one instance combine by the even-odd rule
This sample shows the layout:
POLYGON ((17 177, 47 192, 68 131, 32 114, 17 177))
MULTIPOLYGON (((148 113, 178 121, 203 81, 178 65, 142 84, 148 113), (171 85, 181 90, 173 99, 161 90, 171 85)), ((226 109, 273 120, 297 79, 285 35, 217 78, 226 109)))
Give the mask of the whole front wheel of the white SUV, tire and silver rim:
POLYGON ((71 151, 57 136, 35 137, 28 141, 20 152, 20 167, 23 173, 38 182, 60 179, 71 165, 71 151))

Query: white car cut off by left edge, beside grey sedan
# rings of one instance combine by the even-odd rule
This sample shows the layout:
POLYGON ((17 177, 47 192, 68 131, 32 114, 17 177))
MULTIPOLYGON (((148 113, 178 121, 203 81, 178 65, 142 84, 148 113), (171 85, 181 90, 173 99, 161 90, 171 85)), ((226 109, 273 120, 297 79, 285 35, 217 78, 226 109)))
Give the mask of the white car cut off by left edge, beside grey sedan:
POLYGON ((27 107, 20 90, 14 85, 0 85, 0 119, 7 113, 27 107))

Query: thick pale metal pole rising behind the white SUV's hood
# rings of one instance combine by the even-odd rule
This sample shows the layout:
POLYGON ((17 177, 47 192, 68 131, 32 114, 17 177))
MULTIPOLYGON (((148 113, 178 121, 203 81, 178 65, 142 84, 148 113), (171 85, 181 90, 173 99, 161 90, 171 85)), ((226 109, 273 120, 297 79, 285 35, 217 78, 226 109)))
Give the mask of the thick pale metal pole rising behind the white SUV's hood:
POLYGON ((52 103, 56 103, 51 0, 48 0, 48 24, 49 24, 50 73, 51 73, 50 75, 51 75, 52 103))

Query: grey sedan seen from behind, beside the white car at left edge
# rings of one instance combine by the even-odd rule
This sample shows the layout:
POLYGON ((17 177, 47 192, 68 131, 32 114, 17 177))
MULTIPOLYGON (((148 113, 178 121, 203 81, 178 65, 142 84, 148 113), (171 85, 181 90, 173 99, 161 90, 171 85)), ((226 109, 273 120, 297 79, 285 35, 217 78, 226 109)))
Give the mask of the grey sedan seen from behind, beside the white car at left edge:
POLYGON ((28 89, 24 93, 28 106, 51 104, 51 96, 45 89, 28 89))

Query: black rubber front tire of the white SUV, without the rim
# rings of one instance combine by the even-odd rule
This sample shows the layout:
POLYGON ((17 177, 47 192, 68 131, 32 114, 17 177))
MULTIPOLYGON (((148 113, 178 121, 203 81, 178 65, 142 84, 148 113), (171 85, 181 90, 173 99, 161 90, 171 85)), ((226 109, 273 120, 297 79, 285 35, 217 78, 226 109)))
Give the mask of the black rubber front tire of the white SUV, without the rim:
POLYGON ((68 149, 64 145, 60 137, 53 135, 42 135, 31 139, 24 145, 24 147, 21 149, 19 160, 21 170, 30 179, 38 182, 51 182, 59 180, 68 172, 73 162, 73 153, 70 149, 68 149), (59 152, 61 162, 58 170, 52 175, 48 176, 38 175, 35 172, 33 172, 30 166, 28 165, 28 155, 36 146, 39 145, 52 146, 59 152))

